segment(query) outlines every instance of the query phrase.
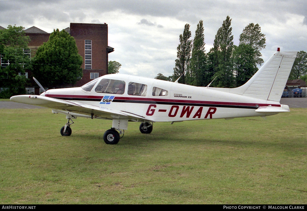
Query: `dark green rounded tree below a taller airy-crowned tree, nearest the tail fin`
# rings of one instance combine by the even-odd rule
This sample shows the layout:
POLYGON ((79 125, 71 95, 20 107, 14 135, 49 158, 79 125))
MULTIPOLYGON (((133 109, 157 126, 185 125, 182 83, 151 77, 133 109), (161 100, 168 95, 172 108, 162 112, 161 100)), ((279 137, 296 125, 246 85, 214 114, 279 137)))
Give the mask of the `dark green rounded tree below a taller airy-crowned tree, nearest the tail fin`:
POLYGON ((256 50, 249 44, 234 46, 233 61, 236 86, 245 84, 257 71, 256 50))

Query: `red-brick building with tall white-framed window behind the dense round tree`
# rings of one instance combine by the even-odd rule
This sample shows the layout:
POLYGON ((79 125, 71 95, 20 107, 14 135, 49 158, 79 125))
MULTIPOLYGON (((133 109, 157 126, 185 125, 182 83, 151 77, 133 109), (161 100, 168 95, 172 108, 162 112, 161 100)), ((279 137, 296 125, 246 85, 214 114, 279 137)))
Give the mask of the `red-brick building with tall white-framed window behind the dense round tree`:
MULTIPOLYGON (((4 29, 3 27, 0 29, 4 29)), ((108 25, 70 23, 70 27, 64 29, 76 40, 79 54, 83 58, 83 77, 74 86, 83 84, 107 74, 108 54, 114 51, 114 48, 108 46, 108 25)), ((33 26, 26 29, 25 35, 29 36, 31 41, 28 46, 31 49, 31 57, 35 56, 37 48, 49 40, 50 33, 47 33, 33 26)), ((29 78, 32 78, 29 73, 29 78)), ((34 85, 36 86, 36 85, 34 85)), ((37 94, 37 90, 35 91, 37 94)))

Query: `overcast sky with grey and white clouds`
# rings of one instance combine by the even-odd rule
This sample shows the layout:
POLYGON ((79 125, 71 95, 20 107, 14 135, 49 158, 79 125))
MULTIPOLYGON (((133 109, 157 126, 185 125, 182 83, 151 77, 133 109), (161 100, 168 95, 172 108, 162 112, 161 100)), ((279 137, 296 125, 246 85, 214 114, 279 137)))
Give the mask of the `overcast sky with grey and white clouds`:
POLYGON ((109 60, 122 64, 120 73, 154 78, 173 74, 179 35, 186 23, 194 38, 203 20, 206 52, 227 15, 234 44, 250 23, 266 35, 266 61, 281 51, 307 51, 305 0, 0 0, 0 26, 36 26, 48 33, 70 23, 107 23, 109 60))

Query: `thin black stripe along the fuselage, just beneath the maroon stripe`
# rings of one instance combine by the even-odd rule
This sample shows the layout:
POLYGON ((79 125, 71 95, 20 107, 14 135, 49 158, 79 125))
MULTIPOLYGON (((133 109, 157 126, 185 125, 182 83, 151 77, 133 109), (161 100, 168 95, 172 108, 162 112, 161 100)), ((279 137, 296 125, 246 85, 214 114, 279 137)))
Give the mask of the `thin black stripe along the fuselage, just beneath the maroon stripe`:
MULTIPOLYGON (((100 102, 101 101, 101 99, 93 99, 93 98, 56 98, 56 99, 74 100, 74 101, 94 101, 94 102, 100 102)), ((160 101, 144 101, 144 100, 116 100, 116 99, 114 99, 112 102, 159 104, 159 105, 186 105, 186 106, 239 108, 239 109, 257 109, 258 108, 258 106, 249 106, 249 105, 221 105, 221 104, 208 104, 208 103, 160 102, 160 101)))

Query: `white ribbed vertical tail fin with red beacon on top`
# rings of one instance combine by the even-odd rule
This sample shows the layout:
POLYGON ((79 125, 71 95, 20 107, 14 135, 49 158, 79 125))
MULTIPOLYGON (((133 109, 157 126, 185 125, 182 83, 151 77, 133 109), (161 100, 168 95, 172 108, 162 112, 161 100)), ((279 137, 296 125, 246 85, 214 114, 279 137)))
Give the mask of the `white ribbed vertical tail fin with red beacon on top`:
POLYGON ((275 52, 244 85, 230 92, 262 100, 280 101, 297 52, 275 52))

